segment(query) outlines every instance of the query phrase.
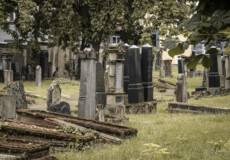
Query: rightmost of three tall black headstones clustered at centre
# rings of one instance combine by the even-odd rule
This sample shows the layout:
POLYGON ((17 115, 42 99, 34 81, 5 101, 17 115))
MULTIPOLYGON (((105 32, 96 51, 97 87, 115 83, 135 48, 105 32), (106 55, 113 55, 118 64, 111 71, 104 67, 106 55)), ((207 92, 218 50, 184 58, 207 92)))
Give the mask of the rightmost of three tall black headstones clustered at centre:
POLYGON ((144 87, 144 100, 146 102, 153 101, 152 66, 152 47, 149 44, 146 44, 142 47, 141 54, 141 73, 144 87))

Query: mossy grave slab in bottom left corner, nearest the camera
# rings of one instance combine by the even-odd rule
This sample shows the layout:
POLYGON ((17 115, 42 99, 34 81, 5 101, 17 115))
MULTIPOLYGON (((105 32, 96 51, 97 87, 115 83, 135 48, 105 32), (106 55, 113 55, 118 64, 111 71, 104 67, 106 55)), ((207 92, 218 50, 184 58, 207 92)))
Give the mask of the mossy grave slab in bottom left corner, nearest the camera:
POLYGON ((0 138, 0 154, 6 154, 6 159, 10 159, 11 155, 17 156, 18 159, 41 158, 49 154, 49 149, 50 146, 46 142, 21 138, 0 138))

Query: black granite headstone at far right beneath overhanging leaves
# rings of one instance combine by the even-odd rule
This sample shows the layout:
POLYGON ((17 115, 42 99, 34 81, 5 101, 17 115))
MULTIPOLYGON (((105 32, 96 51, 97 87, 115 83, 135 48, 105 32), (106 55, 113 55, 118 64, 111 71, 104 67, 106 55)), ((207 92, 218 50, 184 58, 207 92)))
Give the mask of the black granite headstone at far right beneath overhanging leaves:
POLYGON ((209 88, 218 88, 220 87, 220 76, 218 74, 217 55, 210 54, 210 59, 213 64, 209 70, 209 88))

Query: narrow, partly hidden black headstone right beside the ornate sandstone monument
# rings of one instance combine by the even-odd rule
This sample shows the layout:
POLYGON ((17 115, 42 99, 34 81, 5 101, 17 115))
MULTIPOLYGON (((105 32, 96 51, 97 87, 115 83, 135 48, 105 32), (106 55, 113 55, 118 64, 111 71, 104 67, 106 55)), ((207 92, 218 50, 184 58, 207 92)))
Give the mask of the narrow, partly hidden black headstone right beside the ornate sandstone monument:
POLYGON ((129 86, 129 45, 125 44, 125 61, 124 61, 124 92, 128 93, 129 86))

